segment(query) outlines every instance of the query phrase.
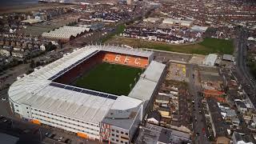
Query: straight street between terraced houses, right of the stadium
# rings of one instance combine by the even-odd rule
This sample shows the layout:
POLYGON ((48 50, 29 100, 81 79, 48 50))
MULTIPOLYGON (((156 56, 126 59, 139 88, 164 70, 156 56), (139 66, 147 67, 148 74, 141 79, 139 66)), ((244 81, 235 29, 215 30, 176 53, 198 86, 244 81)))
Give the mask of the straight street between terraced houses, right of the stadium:
POLYGON ((193 130, 194 130, 194 142, 196 144, 210 144, 205 131, 202 131, 202 129, 206 130, 206 123, 203 121, 204 115, 199 113, 199 111, 202 110, 202 97, 198 95, 198 91, 200 90, 199 83, 197 82, 198 74, 195 72, 195 66, 194 65, 187 65, 187 74, 189 77, 189 87, 190 87, 190 93, 193 94, 194 98, 194 110, 192 112, 193 115, 193 130), (194 76, 193 76, 194 74, 194 76), (199 135, 197 135, 197 133, 199 135))

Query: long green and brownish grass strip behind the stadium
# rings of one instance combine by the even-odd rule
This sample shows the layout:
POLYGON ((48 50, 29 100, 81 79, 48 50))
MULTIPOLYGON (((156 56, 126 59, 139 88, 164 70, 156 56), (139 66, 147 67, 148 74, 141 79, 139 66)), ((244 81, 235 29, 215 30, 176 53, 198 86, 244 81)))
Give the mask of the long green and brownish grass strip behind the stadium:
POLYGON ((135 38, 114 37, 106 43, 115 45, 128 45, 138 48, 148 48, 154 50, 174 51, 186 54, 233 54, 234 46, 232 40, 205 38, 203 42, 191 45, 169 45, 165 42, 149 42, 135 38))

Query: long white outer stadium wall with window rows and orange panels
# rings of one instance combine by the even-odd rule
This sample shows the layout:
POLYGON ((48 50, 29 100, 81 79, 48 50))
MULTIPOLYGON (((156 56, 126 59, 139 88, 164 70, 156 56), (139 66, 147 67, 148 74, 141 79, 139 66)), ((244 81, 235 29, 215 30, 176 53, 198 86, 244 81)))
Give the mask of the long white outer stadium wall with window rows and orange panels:
POLYGON ((21 118, 38 125, 48 125, 68 130, 76 134, 86 136, 90 139, 99 139, 99 123, 85 122, 78 119, 66 117, 60 114, 39 110, 26 104, 10 102, 11 109, 21 118))

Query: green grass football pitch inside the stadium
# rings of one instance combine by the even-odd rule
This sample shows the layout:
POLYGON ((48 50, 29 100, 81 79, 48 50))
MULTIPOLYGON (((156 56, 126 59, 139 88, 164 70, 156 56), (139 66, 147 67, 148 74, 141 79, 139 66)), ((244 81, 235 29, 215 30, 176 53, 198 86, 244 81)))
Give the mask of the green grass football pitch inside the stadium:
POLYGON ((103 62, 78 78, 74 86, 109 94, 128 95, 142 72, 140 68, 103 62))

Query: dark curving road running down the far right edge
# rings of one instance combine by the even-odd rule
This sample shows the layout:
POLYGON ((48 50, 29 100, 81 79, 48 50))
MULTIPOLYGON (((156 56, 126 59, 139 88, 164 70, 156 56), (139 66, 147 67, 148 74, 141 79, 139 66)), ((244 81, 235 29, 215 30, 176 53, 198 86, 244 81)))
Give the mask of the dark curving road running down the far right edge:
POLYGON ((256 81, 254 76, 250 74, 249 68, 246 66, 246 38, 247 32, 244 29, 238 30, 238 38, 235 40, 236 54, 236 72, 238 74, 238 80, 246 93, 249 94, 250 100, 256 106, 256 81))

